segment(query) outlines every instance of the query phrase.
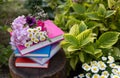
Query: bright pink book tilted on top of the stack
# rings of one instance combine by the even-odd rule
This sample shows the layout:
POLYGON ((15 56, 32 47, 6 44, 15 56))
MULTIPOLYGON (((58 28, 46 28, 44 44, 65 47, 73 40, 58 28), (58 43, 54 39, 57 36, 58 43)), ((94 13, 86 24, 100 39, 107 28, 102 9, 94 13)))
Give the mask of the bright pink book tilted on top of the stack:
POLYGON ((44 24, 48 32, 48 37, 51 41, 45 40, 27 48, 23 45, 17 45, 17 48, 22 55, 64 39, 64 32, 59 27, 57 27, 52 21, 46 20, 44 21, 44 24))

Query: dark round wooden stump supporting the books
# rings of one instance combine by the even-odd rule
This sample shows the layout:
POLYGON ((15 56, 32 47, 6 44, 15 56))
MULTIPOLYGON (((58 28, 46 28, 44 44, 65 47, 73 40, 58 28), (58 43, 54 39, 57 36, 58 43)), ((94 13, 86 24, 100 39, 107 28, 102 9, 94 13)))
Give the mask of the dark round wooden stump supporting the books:
POLYGON ((9 58, 9 69, 12 78, 66 78, 65 54, 60 50, 50 59, 49 67, 44 68, 18 68, 15 67, 15 57, 9 58))

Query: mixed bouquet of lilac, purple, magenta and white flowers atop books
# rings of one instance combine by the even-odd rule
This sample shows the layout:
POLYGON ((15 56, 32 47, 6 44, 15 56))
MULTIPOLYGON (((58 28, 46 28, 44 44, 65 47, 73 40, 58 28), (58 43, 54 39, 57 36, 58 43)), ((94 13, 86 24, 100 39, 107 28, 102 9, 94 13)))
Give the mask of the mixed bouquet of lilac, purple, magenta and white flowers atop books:
POLYGON ((47 30, 42 20, 36 20, 34 16, 18 16, 12 22, 11 42, 12 49, 16 45, 31 45, 44 41, 47 38, 47 30))

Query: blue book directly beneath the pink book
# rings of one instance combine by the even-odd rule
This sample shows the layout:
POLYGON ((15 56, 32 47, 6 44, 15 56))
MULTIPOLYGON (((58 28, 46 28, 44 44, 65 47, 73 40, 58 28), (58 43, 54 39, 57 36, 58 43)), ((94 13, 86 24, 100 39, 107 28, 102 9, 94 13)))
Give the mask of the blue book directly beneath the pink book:
POLYGON ((14 54, 16 57, 49 57, 50 50, 51 50, 51 45, 48 45, 38 50, 35 50, 31 53, 27 53, 25 55, 21 55, 19 50, 16 49, 14 50, 14 54))

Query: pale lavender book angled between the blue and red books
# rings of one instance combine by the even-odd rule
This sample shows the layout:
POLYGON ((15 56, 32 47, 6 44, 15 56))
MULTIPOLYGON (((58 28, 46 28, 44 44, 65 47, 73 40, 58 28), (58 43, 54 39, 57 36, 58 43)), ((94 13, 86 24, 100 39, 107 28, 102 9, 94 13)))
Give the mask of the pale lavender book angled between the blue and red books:
POLYGON ((51 52, 50 56, 47 58, 31 58, 33 61, 40 63, 40 64, 45 64, 47 61, 49 61, 59 50, 61 49, 59 43, 54 43, 51 47, 51 52))

